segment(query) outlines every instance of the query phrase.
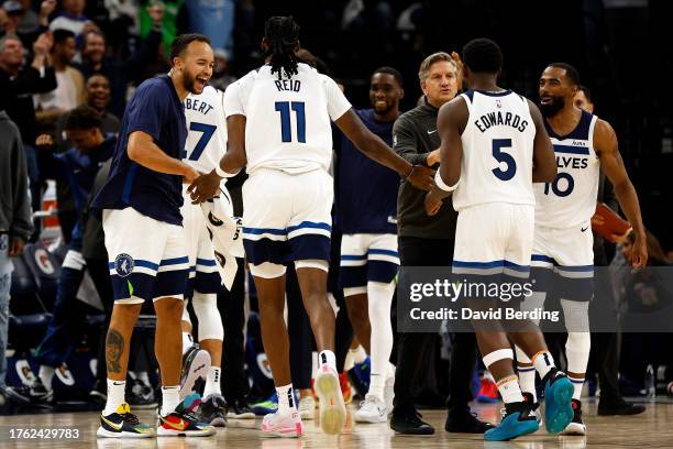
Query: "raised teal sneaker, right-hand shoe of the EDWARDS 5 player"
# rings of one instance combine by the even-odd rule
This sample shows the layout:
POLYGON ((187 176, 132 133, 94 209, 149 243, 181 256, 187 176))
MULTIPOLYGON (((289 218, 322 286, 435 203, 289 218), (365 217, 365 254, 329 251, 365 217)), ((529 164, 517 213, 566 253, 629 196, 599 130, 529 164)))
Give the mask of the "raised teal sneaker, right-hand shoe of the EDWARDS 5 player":
POLYGON ((573 420, 573 387, 565 373, 553 368, 544 379, 544 426, 550 434, 559 434, 573 420))

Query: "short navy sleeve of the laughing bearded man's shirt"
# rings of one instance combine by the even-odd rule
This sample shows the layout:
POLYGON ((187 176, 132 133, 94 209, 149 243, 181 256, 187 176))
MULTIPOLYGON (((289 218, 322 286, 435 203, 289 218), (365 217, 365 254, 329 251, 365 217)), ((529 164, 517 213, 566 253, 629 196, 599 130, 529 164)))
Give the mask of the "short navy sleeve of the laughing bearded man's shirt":
POLYGON ((144 84, 135 91, 126 109, 129 113, 128 134, 143 131, 152 135, 155 142, 158 141, 172 92, 157 87, 156 84, 144 84))

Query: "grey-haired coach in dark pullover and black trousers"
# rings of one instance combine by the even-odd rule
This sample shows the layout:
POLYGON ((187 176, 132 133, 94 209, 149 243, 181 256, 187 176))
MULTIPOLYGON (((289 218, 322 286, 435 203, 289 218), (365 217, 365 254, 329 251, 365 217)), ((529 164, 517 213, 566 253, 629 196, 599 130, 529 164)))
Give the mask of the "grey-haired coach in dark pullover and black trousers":
MULTIPOLYGON (((440 52, 428 56, 420 66, 419 78, 423 103, 400 116, 393 128, 395 151, 411 164, 439 166, 440 136, 437 132, 439 108, 452 100, 459 86, 457 55, 440 52)), ((445 200, 439 213, 428 217, 423 206, 426 193, 402 183, 397 197, 399 256, 402 266, 451 266, 457 213, 445 200)), ((400 300, 398 298, 398 300, 400 300)), ((401 434, 433 434, 413 404, 413 386, 423 352, 432 351, 435 333, 400 332, 395 375, 395 407, 390 427, 401 434)), ((433 351, 432 351, 433 352, 433 351)), ((448 402, 448 431, 483 434, 489 425, 476 419, 467 403, 476 362, 474 333, 456 333, 451 357, 448 402)))

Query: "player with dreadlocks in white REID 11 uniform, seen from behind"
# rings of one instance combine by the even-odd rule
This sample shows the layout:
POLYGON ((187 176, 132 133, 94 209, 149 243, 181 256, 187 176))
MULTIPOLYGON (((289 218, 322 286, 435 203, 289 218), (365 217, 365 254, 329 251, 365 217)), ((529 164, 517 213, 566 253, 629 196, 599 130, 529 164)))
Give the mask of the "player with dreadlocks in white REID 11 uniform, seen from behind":
MULTIPOLYGON (((216 167, 233 176, 247 166, 243 185, 243 238, 254 276, 264 349, 278 393, 278 410, 265 416, 268 435, 302 434, 288 364, 288 337, 283 318, 285 263, 294 263, 306 311, 318 347, 316 392, 320 425, 339 434, 345 406, 334 360, 334 313, 328 302, 333 183, 334 121, 369 157, 390 167, 418 188, 429 190, 432 172, 412 166, 368 131, 336 84, 297 61, 299 26, 291 17, 271 18, 262 48, 266 64, 229 86, 224 94, 229 151, 216 167)), ((192 199, 212 195, 212 175, 194 183, 192 199)))

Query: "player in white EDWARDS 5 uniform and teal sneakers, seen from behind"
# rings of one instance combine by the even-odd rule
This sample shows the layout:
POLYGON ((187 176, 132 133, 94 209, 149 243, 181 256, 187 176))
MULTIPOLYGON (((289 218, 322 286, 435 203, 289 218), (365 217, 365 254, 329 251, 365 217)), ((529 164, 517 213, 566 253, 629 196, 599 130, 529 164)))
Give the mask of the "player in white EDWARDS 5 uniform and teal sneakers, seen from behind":
MULTIPOLYGON (((463 48, 470 90, 442 106, 437 128, 442 139, 437 186, 426 210, 434 213, 453 193, 459 211, 452 271, 474 283, 520 282, 530 270, 534 227, 532 183, 556 174, 542 116, 528 99, 496 85, 503 64, 499 46, 486 39, 463 48)), ((474 310, 499 307, 498 298, 468 297, 474 310)), ((484 364, 497 382, 506 415, 486 440, 508 440, 539 428, 514 373, 508 337, 533 360, 545 384, 547 428, 556 434, 573 417, 572 384, 547 350, 539 328, 526 320, 505 332, 497 320, 473 319, 484 364)))

